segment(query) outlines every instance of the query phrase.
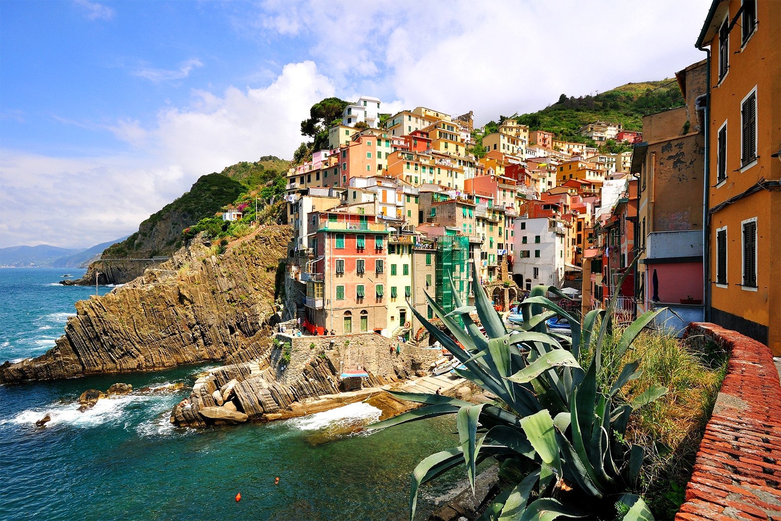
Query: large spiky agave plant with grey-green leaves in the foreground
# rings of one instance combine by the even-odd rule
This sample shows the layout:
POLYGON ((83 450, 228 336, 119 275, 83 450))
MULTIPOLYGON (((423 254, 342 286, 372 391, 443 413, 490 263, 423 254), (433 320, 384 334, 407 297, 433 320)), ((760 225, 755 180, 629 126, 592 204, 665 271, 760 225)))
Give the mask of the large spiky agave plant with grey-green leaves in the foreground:
MULTIPOLYGON (((546 291, 558 292, 556 288, 535 287, 521 304, 522 329, 508 330, 477 284, 476 273, 473 269, 474 306, 464 305, 455 287, 456 309, 451 313, 426 294, 458 343, 410 308, 465 366, 456 369, 458 375, 497 400, 473 404, 438 394, 389 391, 425 406, 369 427, 381 429, 446 414, 456 417, 458 446, 423 459, 412 473, 410 519, 415 516, 421 484, 465 465, 474 491, 476 465, 491 457, 503 469, 515 469, 510 474, 517 478, 494 499, 484 514, 486 519, 604 517, 612 505, 619 505, 623 519, 653 519, 640 497, 625 493, 637 480, 644 452, 637 444, 626 444, 623 435, 633 410, 667 389, 651 387, 629 402, 622 398, 621 387, 640 376, 639 360, 626 364, 615 381, 600 380, 602 342, 612 327, 615 297, 608 309, 595 309, 580 323, 544 297, 546 291), (470 318, 473 311, 485 334, 470 318), (571 340, 547 333, 545 320, 556 314, 569 320, 571 340), (460 316, 463 327, 455 316, 460 316), (601 327, 593 342, 597 323, 601 327), (589 362, 582 366, 579 359, 589 362)), ((616 348, 618 359, 661 311, 646 312, 626 328, 616 348)))

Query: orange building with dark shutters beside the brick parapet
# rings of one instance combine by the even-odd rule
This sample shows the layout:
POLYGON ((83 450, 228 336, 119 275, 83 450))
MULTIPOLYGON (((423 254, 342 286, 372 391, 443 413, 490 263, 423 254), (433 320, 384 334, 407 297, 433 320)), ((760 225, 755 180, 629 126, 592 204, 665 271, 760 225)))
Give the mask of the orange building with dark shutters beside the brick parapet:
POLYGON ((707 319, 781 355, 781 2, 711 3, 707 319))

